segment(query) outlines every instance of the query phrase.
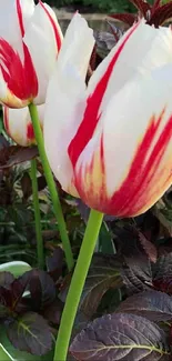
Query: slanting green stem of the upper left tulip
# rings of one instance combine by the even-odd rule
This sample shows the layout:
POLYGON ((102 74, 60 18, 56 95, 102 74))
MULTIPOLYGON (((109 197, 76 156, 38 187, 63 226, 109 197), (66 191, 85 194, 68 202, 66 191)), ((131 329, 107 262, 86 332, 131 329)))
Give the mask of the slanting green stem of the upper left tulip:
POLYGON ((34 104, 30 104, 29 111, 30 111, 30 116, 31 116, 31 120, 32 120, 32 124, 33 124, 33 129, 34 129, 34 136, 36 136, 36 140, 38 143, 38 149, 39 149, 40 158, 42 161, 45 180, 47 180, 47 183, 49 187, 49 191, 50 191, 50 195, 51 195, 51 200, 52 200, 52 204, 53 204, 54 214, 58 220, 59 232, 61 235, 63 250, 65 253, 68 269, 71 270, 74 264, 73 254, 72 254, 68 232, 67 232, 67 227, 65 227, 65 221, 64 221, 63 213, 62 213, 62 208, 61 208, 59 195, 58 195, 58 190, 57 190, 54 179, 53 179, 53 176, 52 176, 52 172, 51 172, 51 169, 49 166, 49 161, 48 161, 48 158, 45 154, 45 150, 44 150, 43 136, 42 136, 42 130, 41 130, 40 122, 39 122, 37 107, 34 104))

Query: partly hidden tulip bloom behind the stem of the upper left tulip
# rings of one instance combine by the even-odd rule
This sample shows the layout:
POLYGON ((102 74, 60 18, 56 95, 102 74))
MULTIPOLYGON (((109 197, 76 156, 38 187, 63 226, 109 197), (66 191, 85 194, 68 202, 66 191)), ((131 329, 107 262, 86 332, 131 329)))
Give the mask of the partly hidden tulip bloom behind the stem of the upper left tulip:
MULTIPOLYGON (((43 128, 44 104, 38 106, 39 121, 43 128)), ((33 126, 28 108, 11 109, 3 107, 3 124, 10 138, 22 147, 36 144, 33 126)))

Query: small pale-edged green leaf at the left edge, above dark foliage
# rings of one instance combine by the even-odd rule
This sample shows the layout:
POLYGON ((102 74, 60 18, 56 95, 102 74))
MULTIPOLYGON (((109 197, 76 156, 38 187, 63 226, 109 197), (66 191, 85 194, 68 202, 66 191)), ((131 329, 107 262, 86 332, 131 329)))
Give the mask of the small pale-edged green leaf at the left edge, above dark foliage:
POLYGON ((30 271, 31 267, 22 261, 12 261, 0 264, 0 272, 11 272, 14 278, 22 275, 24 272, 30 271))

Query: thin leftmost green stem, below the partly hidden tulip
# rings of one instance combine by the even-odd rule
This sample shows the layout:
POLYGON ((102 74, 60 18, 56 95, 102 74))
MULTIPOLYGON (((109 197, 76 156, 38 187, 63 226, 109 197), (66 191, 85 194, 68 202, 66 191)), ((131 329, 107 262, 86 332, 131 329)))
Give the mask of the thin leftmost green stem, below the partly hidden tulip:
POLYGON ((30 174, 31 174, 32 191, 33 191, 33 207, 34 207, 34 220, 36 220, 38 265, 39 265, 40 269, 43 269, 43 265, 44 265, 43 239, 42 239, 40 204, 39 204, 39 195, 38 195, 37 162, 36 162, 36 159, 33 159, 31 161, 30 174))

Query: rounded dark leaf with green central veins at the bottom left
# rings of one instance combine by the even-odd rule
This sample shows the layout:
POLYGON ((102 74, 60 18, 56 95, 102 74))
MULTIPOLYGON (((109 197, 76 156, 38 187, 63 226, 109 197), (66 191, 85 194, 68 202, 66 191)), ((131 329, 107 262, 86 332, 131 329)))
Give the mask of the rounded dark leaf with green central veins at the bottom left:
POLYGON ((50 328, 36 312, 27 312, 9 323, 7 334, 14 348, 36 355, 45 354, 52 347, 50 328))

